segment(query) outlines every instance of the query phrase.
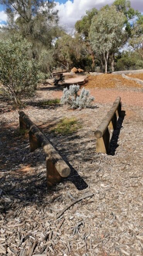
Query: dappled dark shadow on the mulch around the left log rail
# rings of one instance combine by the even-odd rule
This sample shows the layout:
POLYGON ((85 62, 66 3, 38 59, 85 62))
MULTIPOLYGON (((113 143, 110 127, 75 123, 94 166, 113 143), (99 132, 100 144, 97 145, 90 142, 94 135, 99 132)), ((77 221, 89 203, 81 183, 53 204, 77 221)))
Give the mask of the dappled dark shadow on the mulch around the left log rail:
MULTIPOLYGON (((50 124, 49 127, 51 127, 50 124)), ((47 128, 45 127, 45 130, 47 128)), ((70 167, 71 174, 63 179, 61 186, 47 188, 46 154, 43 149, 40 148, 31 153, 28 135, 19 135, 18 128, 12 127, 11 124, 3 123, 3 128, 0 132, 3 137, 3 144, 0 145, 0 149, 2 149, 0 151, 2 164, 2 168, 0 168, 0 211, 2 213, 6 214, 7 210, 13 208, 14 202, 22 203, 23 206, 31 203, 42 205, 46 196, 54 195, 55 191, 56 193, 60 192, 66 183, 69 185, 73 183, 78 190, 88 187, 84 179, 78 174, 78 171, 68 162, 67 156, 70 145, 64 145, 67 140, 80 140, 76 133, 64 137, 61 136, 60 143, 63 147, 58 150, 61 157, 70 167)), ((58 143, 58 140, 55 140, 56 138, 52 135, 48 139, 54 139, 58 143)), ((51 142, 51 144, 53 143, 51 142)), ((84 147, 84 144, 81 145, 84 147)), ((53 146, 56 147, 55 143, 53 146)), ((74 152, 72 151, 72 153, 78 153, 77 144, 73 147, 74 152)))

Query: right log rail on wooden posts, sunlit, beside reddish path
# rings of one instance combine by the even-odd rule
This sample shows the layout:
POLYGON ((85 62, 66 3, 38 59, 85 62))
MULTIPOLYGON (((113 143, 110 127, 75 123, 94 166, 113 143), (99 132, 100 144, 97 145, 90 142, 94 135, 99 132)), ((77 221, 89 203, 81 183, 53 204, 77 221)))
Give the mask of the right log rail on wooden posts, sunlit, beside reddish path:
POLYGON ((110 130, 116 130, 117 117, 121 116, 121 97, 117 97, 107 116, 94 132, 97 138, 96 153, 109 153, 110 130))

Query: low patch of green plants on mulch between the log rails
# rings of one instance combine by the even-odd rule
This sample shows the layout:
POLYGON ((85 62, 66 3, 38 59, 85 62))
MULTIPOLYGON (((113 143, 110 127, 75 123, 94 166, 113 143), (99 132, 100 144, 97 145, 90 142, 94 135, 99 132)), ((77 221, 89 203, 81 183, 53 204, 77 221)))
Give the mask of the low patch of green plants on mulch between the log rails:
POLYGON ((60 120, 60 122, 51 130, 51 132, 54 132, 56 134, 67 135, 77 132, 77 130, 81 127, 82 126, 78 122, 76 117, 65 117, 60 120))

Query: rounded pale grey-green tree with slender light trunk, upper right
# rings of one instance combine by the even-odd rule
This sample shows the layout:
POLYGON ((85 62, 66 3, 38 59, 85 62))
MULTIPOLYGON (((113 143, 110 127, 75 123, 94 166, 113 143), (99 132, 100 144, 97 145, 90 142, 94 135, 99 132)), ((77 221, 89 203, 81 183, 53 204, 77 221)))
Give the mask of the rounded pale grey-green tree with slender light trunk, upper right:
POLYGON ((124 33, 123 25, 124 14, 117 12, 114 6, 103 7, 92 19, 89 34, 90 42, 95 52, 103 54, 106 73, 109 53, 121 45, 124 33))

